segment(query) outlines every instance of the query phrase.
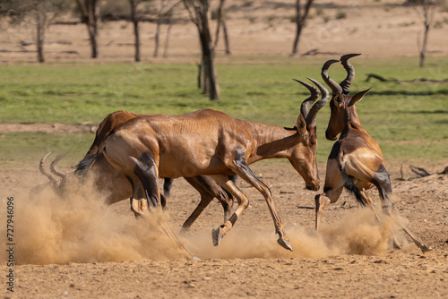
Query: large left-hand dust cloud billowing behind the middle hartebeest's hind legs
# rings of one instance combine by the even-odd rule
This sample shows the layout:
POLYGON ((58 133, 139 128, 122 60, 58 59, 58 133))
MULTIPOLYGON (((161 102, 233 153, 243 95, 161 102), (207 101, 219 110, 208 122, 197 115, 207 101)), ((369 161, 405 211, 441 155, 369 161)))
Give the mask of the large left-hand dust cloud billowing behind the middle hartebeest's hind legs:
MULTIPOLYGON (((15 263, 19 265, 165 261, 187 256, 160 230, 160 224, 168 221, 163 213, 134 218, 129 210, 128 215, 120 215, 91 193, 68 198, 53 192, 21 194, 14 204, 15 263)), ((2 252, 2 264, 5 258, 2 252)))

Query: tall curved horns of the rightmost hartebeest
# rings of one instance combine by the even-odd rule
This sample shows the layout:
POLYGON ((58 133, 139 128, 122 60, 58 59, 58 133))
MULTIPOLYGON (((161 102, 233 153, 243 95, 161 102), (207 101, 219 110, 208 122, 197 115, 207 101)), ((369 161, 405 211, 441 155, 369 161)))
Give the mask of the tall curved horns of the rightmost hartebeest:
POLYGON ((341 93, 348 95, 350 91, 350 85, 353 79, 355 79, 355 68, 353 65, 349 63, 349 59, 351 57, 360 56, 360 54, 347 54, 340 57, 340 60, 337 59, 331 59, 325 62, 322 67, 322 79, 327 83, 327 85, 332 89, 333 94, 335 93, 341 93), (344 79, 344 81, 341 81, 340 84, 333 81, 332 78, 328 75, 328 68, 330 65, 337 63, 340 61, 340 64, 342 64, 347 71, 347 77, 344 79))

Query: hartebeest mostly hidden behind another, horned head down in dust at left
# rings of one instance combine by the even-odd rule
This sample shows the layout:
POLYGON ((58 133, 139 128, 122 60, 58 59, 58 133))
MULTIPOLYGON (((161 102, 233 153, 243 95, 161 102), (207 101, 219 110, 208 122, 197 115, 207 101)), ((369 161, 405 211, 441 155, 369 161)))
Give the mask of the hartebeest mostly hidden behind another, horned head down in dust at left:
MULTIPOLYGON (((115 111, 104 118, 104 120, 99 124, 97 129, 95 140, 93 141, 90 149, 87 151, 84 158, 82 158, 81 162, 78 164, 77 169, 74 172, 79 178, 84 178, 87 175, 87 170, 82 166, 86 163, 89 163, 90 159, 98 154, 99 145, 102 141, 104 141, 110 132, 114 130, 114 128, 118 124, 123 124, 126 121, 134 118, 134 117, 153 117, 157 115, 142 115, 135 114, 127 111, 115 111)), ((67 181, 73 176, 73 174, 63 174, 56 169, 56 164, 59 162, 61 158, 64 156, 59 156, 50 164, 50 170, 54 175, 60 176, 62 178, 61 182, 57 182, 56 179, 47 172, 45 168, 45 159, 47 155, 44 156, 40 160, 39 170, 43 175, 46 175, 50 180, 50 184, 56 192, 65 192, 67 181)), ((122 175, 114 167, 112 167, 106 158, 101 154, 96 159, 95 163, 91 167, 91 172, 94 174, 90 176, 89 179, 94 180, 94 185, 97 188, 98 192, 107 192, 106 203, 113 204, 118 201, 124 201, 131 198, 133 194, 132 185, 125 178, 125 175, 122 175)), ((196 189, 201 194, 201 201, 199 202, 196 209, 194 209, 193 213, 185 220, 184 225, 182 226, 182 231, 187 231, 190 226, 194 223, 194 220, 199 217, 202 213, 203 209, 205 209, 209 203, 213 200, 213 198, 217 198, 220 201, 223 209, 224 209, 224 219, 230 217, 230 212, 233 205, 233 199, 228 192, 225 192, 219 184, 211 179, 211 177, 206 175, 198 175, 194 177, 185 177, 185 180, 191 184, 194 189, 196 189)), ((160 196, 162 207, 166 204, 165 197, 169 196, 169 191, 172 184, 171 178, 165 178, 165 184, 163 186, 164 196, 160 196)), ((74 181, 77 183, 77 181, 74 181)))

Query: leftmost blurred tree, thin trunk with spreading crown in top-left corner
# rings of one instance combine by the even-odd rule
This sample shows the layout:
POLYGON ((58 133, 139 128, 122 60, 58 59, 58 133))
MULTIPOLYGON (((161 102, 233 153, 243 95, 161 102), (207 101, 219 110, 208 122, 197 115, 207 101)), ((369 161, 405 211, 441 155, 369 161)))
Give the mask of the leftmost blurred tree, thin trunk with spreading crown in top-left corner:
POLYGON ((47 28, 65 12, 69 4, 65 0, 2 0, 2 13, 16 23, 27 22, 31 26, 36 43, 39 63, 45 62, 44 42, 47 28))

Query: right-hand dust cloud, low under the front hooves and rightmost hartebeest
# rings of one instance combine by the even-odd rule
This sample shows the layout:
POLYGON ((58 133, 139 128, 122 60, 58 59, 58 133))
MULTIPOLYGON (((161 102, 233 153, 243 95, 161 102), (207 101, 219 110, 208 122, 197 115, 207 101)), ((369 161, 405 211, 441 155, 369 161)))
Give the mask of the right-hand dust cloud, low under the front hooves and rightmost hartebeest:
MULTIPOLYGON (((273 228, 273 227, 272 227, 273 228)), ((293 227, 287 230, 294 252, 277 244, 277 235, 270 232, 235 227, 220 242, 211 245, 210 232, 186 239, 187 246, 202 259, 233 258, 324 258, 341 254, 378 255, 391 246, 392 231, 398 230, 392 218, 381 222, 369 209, 349 212, 340 222, 314 228, 293 227)), ((406 241, 404 241, 406 242, 406 241)))

